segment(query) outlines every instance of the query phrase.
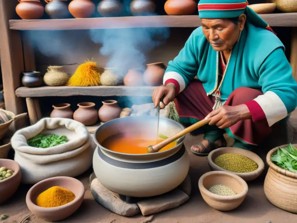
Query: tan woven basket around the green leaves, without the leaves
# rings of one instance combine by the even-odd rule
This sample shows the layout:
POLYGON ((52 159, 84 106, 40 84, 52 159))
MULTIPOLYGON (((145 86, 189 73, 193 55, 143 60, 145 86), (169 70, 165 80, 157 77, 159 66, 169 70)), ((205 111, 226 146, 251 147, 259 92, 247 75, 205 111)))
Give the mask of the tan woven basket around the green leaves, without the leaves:
POLYGON ((278 149, 279 147, 270 150, 266 156, 269 169, 264 180, 264 193, 273 205, 282 210, 297 213, 297 173, 282 169, 271 161, 271 156, 278 149))

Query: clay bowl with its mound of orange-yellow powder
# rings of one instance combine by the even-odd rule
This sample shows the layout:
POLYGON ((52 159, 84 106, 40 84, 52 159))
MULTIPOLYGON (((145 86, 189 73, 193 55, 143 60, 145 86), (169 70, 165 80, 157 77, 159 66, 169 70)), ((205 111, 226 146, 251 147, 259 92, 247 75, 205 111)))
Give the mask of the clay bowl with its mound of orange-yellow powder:
POLYGON ((83 202, 83 183, 72 177, 53 177, 30 188, 26 196, 29 210, 49 221, 59 221, 72 215, 83 202))

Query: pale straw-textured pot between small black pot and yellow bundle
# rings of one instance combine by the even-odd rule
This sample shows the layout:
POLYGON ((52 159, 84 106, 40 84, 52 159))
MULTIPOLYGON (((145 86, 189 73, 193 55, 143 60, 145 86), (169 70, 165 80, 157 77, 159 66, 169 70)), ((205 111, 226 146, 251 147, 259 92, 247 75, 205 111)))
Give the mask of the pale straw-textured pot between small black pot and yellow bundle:
POLYGON ((49 66, 43 76, 43 81, 48 86, 64 86, 70 76, 63 71, 62 66, 49 66))

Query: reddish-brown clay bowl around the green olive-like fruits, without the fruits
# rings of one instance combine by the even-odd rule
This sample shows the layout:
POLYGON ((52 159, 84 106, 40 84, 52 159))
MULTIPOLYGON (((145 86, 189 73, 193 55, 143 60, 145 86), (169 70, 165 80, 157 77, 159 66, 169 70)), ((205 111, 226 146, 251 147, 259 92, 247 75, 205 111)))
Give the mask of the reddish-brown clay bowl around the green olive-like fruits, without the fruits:
POLYGON ((11 177, 0 181, 0 205, 7 201, 17 191, 22 178, 20 173, 20 165, 10 159, 0 159, 0 167, 11 169, 14 173, 11 177))

